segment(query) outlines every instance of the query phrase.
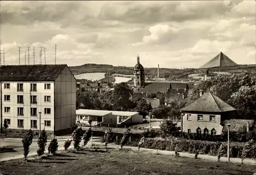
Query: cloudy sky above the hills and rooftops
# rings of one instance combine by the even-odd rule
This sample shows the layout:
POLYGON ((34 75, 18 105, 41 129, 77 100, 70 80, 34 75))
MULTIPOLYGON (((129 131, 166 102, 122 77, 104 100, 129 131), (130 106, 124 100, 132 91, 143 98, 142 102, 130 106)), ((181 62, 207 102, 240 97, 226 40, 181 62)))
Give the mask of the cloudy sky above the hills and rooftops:
MULTIPOLYGON (((198 68, 221 51, 255 64, 255 1, 1 1, 5 63, 198 68), (42 56, 44 58, 44 55, 42 56), (27 61, 28 62, 28 61, 27 61)), ((3 57, 3 54, 2 54, 3 57)), ((3 59, 2 59, 3 63, 3 59)))

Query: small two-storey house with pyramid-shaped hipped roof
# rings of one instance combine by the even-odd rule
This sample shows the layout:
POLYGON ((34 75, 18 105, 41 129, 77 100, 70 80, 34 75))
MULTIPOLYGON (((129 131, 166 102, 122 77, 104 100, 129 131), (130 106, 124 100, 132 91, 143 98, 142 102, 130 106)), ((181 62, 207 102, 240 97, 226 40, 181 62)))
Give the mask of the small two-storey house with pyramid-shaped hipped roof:
POLYGON ((181 109, 181 130, 187 133, 220 135, 224 123, 236 119, 236 109, 210 92, 181 109))

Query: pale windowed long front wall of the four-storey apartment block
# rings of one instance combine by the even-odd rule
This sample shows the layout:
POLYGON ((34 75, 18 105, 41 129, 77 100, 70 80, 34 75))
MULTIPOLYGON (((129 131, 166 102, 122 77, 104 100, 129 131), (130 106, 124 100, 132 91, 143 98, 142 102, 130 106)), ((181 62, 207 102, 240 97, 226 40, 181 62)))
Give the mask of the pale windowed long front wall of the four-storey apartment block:
MULTIPOLYGON (((3 121, 4 119, 10 119, 11 124, 9 125, 9 129, 30 129, 31 120, 37 120, 37 128, 34 130, 39 129, 39 112, 41 112, 41 129, 44 128, 44 120, 50 120, 51 126, 46 127, 46 130, 53 130, 54 129, 54 111, 53 111, 53 101, 54 101, 54 82, 50 81, 20 81, 20 82, 8 82, 3 81, 1 82, 2 86, 2 98, 3 98, 3 121), (4 83, 10 83, 10 89, 4 89, 4 83), (23 92, 17 92, 17 83, 23 83, 23 92), (30 92, 30 83, 36 83, 37 84, 37 91, 36 92, 30 92), (50 90, 45 90, 45 83, 51 84, 50 90), (10 101, 4 101, 4 95, 10 95, 10 101), (17 95, 23 95, 24 96, 24 104, 17 104, 17 95), (35 95, 37 96, 37 104, 30 104, 30 96, 35 95), (45 102, 44 96, 51 96, 51 102, 45 102), (11 107, 10 113, 5 113, 4 108, 5 107, 11 107), (17 116, 17 107, 24 107, 24 116, 17 116), (30 116, 30 108, 35 107, 37 108, 37 116, 31 117, 30 116), (44 114, 44 108, 51 108, 51 114, 44 114), (24 120, 24 128, 18 128, 17 127, 17 120, 23 119, 24 120)), ((32 128, 33 129, 33 128, 32 128)))

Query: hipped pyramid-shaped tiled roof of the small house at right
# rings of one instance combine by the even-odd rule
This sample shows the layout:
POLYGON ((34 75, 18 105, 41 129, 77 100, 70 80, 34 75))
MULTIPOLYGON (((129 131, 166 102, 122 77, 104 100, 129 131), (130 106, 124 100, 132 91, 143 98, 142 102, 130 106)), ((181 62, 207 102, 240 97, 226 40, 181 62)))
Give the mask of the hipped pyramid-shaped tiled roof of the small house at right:
POLYGON ((224 102, 216 95, 211 94, 210 92, 206 92, 197 100, 181 109, 181 111, 212 113, 221 113, 235 110, 235 108, 224 102))

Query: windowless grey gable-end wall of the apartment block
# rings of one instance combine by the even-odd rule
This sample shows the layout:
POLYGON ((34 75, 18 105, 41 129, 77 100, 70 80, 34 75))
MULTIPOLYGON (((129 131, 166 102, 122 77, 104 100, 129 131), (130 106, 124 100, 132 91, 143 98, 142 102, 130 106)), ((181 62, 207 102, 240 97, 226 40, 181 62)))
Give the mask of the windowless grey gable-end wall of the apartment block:
POLYGON ((69 68, 55 80, 55 130, 70 128, 76 122, 76 79, 69 68))

